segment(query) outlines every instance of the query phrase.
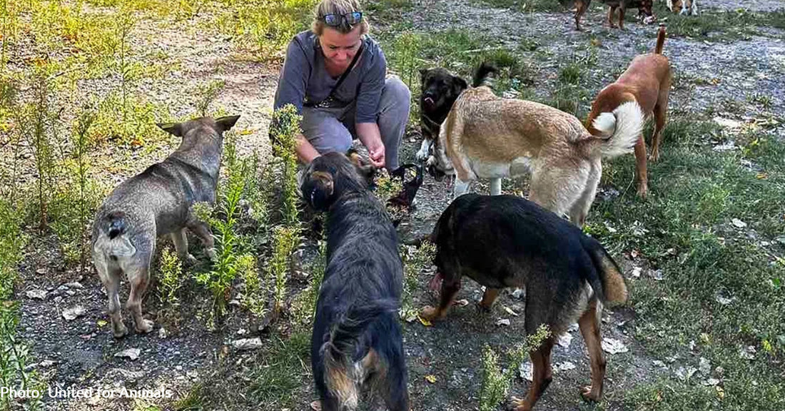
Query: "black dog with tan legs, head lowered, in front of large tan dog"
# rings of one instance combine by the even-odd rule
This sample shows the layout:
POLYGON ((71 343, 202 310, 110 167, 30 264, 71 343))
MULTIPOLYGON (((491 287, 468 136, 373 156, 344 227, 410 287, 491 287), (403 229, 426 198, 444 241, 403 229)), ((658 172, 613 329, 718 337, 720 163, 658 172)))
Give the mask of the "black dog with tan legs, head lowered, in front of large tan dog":
POLYGON ((593 401, 601 397, 602 304, 623 303, 627 291, 621 269, 597 240, 524 198, 472 194, 447 207, 431 240, 443 281, 439 306, 424 307, 423 318, 444 318, 466 275, 487 287, 484 307, 491 307, 502 288, 525 288, 527 335, 542 324, 549 327, 550 337, 530 352, 534 380, 526 398, 515 399, 518 411, 530 410, 550 384, 556 336, 576 319, 591 362, 591 385, 582 395, 593 401))

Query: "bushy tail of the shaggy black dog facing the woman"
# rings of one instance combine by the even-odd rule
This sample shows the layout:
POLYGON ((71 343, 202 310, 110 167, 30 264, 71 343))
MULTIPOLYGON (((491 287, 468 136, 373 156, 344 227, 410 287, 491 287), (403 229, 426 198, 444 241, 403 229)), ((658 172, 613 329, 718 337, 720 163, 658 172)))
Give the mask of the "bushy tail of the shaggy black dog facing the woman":
POLYGON ((353 305, 330 331, 323 344, 324 383, 338 399, 340 409, 356 409, 361 386, 371 374, 385 368, 384 353, 370 346, 368 327, 384 315, 398 311, 397 300, 374 300, 353 305))

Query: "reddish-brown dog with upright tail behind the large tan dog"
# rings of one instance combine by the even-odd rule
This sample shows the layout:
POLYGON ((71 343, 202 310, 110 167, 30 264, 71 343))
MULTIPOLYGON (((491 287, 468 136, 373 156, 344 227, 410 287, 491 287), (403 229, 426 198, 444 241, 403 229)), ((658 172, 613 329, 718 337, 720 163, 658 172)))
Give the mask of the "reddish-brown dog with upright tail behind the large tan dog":
MULTIPOLYGON (((592 103, 586 128, 593 136, 608 136, 597 127, 597 120, 604 113, 613 111, 623 104, 635 102, 647 116, 654 115, 654 133, 652 134, 652 162, 659 158, 659 141, 665 126, 670 94, 671 72, 668 58, 663 56, 665 44, 665 26, 660 24, 657 34, 657 45, 654 53, 636 56, 630 67, 616 82, 606 86, 597 94, 592 103)), ((635 145, 635 162, 638 178, 638 195, 645 198, 648 194, 646 171, 646 142, 643 133, 638 136, 635 145)))

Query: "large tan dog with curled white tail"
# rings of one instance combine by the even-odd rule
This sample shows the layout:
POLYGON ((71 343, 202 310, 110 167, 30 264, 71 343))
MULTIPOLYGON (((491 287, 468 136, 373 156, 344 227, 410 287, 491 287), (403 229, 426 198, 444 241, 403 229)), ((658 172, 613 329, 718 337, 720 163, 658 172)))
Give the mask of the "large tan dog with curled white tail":
MULTIPOLYGON (((483 65, 476 77, 489 71, 483 65)), ((603 136, 593 136, 574 115, 503 99, 483 85, 455 101, 427 165, 434 176, 455 174, 454 198, 477 178, 491 179, 491 195, 499 195, 502 177, 531 170, 531 201, 582 225, 602 175, 601 158, 632 152, 642 125, 641 107, 633 101, 597 118, 594 126, 603 136)))

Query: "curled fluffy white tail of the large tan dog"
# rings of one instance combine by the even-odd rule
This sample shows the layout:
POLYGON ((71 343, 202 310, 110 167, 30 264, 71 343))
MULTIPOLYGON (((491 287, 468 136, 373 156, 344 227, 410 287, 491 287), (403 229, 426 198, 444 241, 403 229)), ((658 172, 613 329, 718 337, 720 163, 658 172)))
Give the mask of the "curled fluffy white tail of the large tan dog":
MULTIPOLYGON (((628 101, 594 118, 592 125, 604 137, 600 151, 604 158, 631 153, 643 129, 644 115, 637 101, 628 101)), ((596 137, 595 137, 596 138, 596 137)))

